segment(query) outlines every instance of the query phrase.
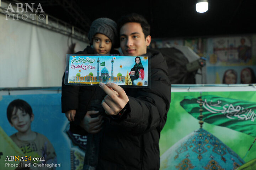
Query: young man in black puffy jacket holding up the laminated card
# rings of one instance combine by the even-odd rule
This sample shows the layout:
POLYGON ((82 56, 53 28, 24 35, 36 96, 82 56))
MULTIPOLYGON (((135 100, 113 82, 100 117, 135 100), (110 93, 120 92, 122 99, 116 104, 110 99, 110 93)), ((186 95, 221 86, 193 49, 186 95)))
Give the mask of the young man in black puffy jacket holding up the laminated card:
MULTIPOLYGON (((124 16, 118 26, 124 54, 147 53, 151 36, 144 17, 124 16)), ((166 122, 171 98, 164 57, 151 52, 151 89, 122 88, 112 83, 100 83, 100 87, 107 94, 101 104, 109 117, 102 128, 97 169, 159 169, 160 131, 166 122)))

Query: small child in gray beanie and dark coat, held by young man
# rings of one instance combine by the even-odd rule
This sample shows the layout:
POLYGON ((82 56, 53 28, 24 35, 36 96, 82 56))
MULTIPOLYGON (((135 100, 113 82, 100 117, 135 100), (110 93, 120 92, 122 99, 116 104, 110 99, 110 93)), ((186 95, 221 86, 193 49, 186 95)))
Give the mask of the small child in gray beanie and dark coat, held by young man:
MULTIPOLYGON (((98 18, 92 22, 88 39, 90 46, 78 54, 119 54, 113 50, 117 46, 117 24, 112 19, 98 18)), ((99 113, 105 112, 98 109, 101 101, 97 99, 102 98, 99 94, 104 94, 101 91, 100 87, 66 86, 63 76, 62 112, 70 121, 71 132, 87 135, 84 170, 97 166, 100 134, 96 133, 100 132, 103 123, 99 113)))

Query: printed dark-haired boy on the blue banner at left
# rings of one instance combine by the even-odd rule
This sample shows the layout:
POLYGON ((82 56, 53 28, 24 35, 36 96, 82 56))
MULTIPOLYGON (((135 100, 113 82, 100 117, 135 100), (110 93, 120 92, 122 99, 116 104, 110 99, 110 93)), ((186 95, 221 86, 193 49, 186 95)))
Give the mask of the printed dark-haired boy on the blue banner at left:
MULTIPOLYGON (((57 163, 57 156, 52 143, 46 136, 31 130, 34 114, 31 106, 26 101, 20 99, 12 101, 7 107, 7 119, 11 126, 18 131, 11 135, 10 138, 21 148, 25 156, 31 156, 31 159, 44 158, 44 161, 31 160, 31 169, 34 168, 33 163, 57 163)), ((49 169, 47 166, 43 168, 49 169)))

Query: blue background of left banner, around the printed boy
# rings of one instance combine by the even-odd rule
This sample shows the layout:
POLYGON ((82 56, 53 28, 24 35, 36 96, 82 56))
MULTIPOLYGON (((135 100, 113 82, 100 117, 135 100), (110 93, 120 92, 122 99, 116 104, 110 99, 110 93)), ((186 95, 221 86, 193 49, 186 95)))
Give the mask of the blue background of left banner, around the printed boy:
MULTIPOLYGON (((5 133, 10 136, 17 132, 11 127, 6 115, 8 104, 15 99, 25 100, 31 105, 34 114, 34 120, 31 123, 31 130, 43 134, 52 143, 57 154, 57 170, 70 167, 71 140, 66 134, 69 121, 61 113, 61 94, 31 94, 31 95, 3 95, 0 96, 0 126, 5 133)), ((1 139, 2 140, 2 139, 1 139)), ((5 146, 0 146, 1 148, 5 146)), ((1 157, 2 159, 2 157, 1 157)), ((7 168, 6 168, 7 169, 7 168)))

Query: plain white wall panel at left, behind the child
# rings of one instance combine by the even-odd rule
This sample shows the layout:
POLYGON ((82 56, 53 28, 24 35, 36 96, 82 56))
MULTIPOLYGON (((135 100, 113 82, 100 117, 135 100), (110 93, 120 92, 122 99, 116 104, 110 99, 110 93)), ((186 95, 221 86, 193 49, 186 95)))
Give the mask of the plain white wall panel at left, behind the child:
POLYGON ((67 51, 68 36, 0 14, 0 87, 61 86, 67 51))

